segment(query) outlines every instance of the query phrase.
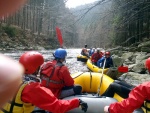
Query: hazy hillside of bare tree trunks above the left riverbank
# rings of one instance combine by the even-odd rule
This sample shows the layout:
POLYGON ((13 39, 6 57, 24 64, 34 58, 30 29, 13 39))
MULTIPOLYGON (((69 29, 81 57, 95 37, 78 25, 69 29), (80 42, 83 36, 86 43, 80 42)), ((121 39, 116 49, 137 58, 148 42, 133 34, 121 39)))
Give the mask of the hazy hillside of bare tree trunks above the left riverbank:
MULTIPOLYGON (((2 30, 6 29, 6 33, 9 31, 8 35, 13 34, 13 36, 9 35, 10 37, 16 38, 16 33, 11 26, 13 25, 14 28, 21 28, 23 33, 28 32, 27 34, 31 35, 31 39, 42 40, 44 37, 43 41, 46 41, 46 44, 59 47, 55 33, 56 26, 59 26, 63 32, 65 45, 71 46, 76 41, 75 26, 70 24, 74 18, 65 7, 65 2, 65 0, 28 0, 27 4, 14 15, 2 18, 2 30)), ((26 36, 23 36, 23 38, 26 38, 26 36)))

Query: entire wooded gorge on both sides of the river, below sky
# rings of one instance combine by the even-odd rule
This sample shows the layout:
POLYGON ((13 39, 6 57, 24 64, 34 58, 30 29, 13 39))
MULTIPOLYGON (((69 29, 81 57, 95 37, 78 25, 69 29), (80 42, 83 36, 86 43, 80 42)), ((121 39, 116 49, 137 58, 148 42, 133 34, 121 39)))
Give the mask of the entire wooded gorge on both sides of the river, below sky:
POLYGON ((28 0, 13 16, 1 19, 1 29, 9 35, 12 31, 7 27, 17 26, 30 38, 59 46, 55 31, 59 26, 64 46, 76 48, 85 43, 103 48, 132 46, 150 38, 149 0, 101 0, 74 9, 66 8, 67 1, 28 0))

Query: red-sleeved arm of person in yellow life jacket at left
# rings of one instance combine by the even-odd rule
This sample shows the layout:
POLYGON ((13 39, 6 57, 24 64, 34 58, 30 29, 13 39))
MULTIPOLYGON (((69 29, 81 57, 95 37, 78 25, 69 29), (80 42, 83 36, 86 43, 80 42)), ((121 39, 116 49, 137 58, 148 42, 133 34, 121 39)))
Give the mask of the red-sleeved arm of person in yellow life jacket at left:
POLYGON ((28 84, 22 92, 21 99, 53 113, 64 113, 77 108, 80 102, 79 99, 58 100, 49 89, 41 87, 40 83, 28 84))

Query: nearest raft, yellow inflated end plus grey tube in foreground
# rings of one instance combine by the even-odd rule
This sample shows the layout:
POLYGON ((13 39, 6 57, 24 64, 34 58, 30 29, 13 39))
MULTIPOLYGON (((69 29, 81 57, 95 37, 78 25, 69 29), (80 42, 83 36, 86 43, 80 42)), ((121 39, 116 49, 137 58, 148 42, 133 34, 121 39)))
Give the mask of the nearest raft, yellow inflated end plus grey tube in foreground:
MULTIPOLYGON (((103 78, 102 84, 100 87, 100 91, 98 92, 99 95, 102 95, 107 90, 109 85, 114 81, 112 78, 110 78, 109 76, 107 76, 105 74, 103 74, 103 77, 102 77, 101 73, 95 73, 95 72, 77 72, 77 73, 72 74, 71 76, 73 77, 75 84, 79 84, 82 86, 82 92, 87 92, 88 94, 93 94, 93 93, 98 92, 102 78, 103 78)), ((96 97, 96 99, 95 99, 94 97, 92 97, 91 100, 88 100, 89 97, 88 96, 84 97, 84 95, 70 97, 70 98, 80 98, 80 99, 84 100, 85 102, 87 102, 89 105, 89 110, 87 111, 87 113, 92 113, 95 111, 95 109, 99 112, 94 112, 94 113, 103 113, 103 108, 104 108, 104 106, 106 106, 106 103, 108 105, 110 105, 111 103, 114 103, 115 100, 113 100, 113 99, 116 99, 119 102, 123 100, 123 98, 120 97, 118 94, 115 94, 113 98, 106 97, 106 98, 100 99, 100 98, 96 97), (108 100, 106 100, 107 98, 108 98, 108 100)), ((81 111, 81 110, 78 110, 78 112, 77 112, 77 110, 72 110, 67 113, 79 113, 79 111, 81 111)), ((133 113, 146 113, 146 112, 145 112, 145 109, 142 110, 139 108, 139 109, 136 109, 133 113)))

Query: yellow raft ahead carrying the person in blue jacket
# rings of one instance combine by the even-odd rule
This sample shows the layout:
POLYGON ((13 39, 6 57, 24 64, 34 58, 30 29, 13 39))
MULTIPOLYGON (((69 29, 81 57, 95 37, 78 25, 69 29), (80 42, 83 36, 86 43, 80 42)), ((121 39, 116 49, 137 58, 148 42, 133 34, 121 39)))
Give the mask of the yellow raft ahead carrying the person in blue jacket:
MULTIPOLYGON (((95 66, 94 64, 92 64, 90 59, 88 59, 88 61, 86 62, 86 65, 87 65, 88 69, 90 69, 91 71, 102 73, 103 69, 101 69, 101 68, 95 66)), ((106 74, 107 71, 108 71, 108 68, 104 69, 104 74, 106 74)))

